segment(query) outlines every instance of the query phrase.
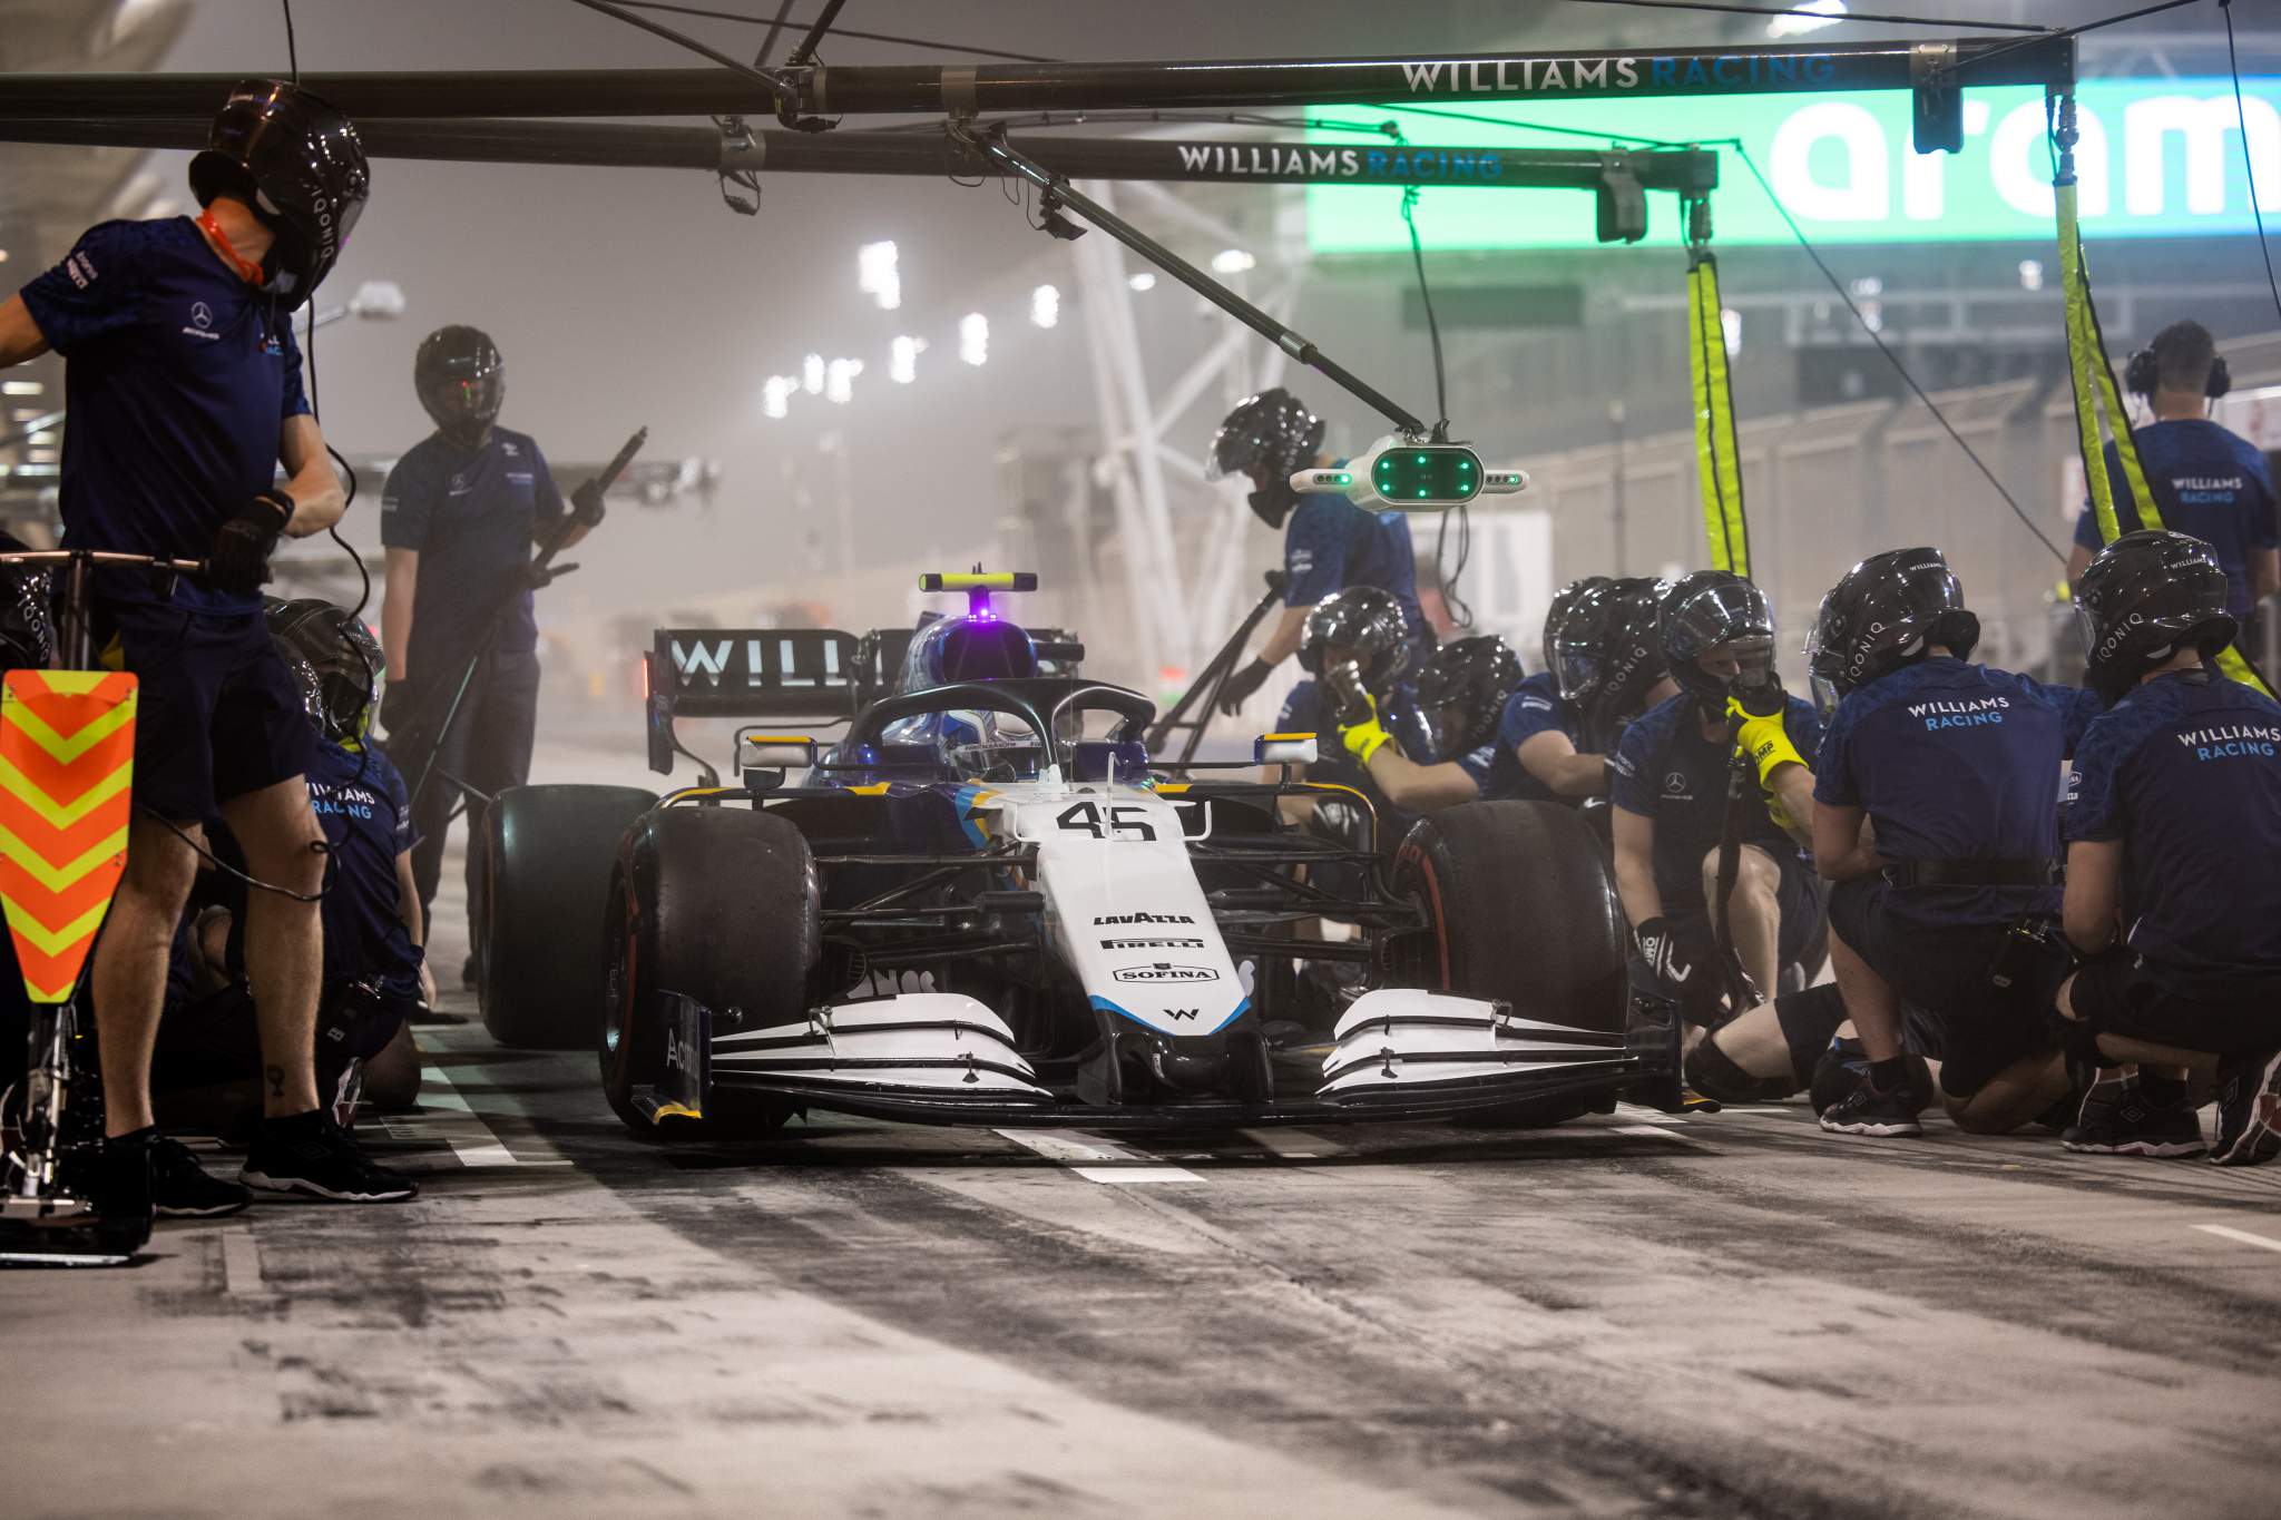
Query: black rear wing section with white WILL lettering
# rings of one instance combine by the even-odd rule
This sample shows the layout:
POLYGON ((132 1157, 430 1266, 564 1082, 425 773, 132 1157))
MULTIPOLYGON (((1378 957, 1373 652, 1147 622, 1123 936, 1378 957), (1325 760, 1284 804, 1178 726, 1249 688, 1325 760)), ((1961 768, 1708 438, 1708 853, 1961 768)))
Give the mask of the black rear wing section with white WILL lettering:
POLYGON ((684 752, 677 718, 855 716, 858 640, 839 629, 657 629, 643 663, 650 770, 684 752))

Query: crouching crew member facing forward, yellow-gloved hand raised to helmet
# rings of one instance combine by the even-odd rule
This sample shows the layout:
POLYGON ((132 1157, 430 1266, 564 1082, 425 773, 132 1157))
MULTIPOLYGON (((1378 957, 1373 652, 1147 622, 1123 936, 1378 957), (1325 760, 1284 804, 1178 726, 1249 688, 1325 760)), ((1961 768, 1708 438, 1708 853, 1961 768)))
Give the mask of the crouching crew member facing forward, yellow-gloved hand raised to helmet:
MULTIPOLYGON (((1615 882, 1635 939, 1633 984, 1672 998, 1695 1023, 1718 1023, 1738 1012, 1722 1000, 1711 912, 1736 750, 1729 700, 1736 690, 1772 693, 1779 716, 1768 727, 1781 743, 1759 768, 1765 777, 1788 770, 1779 784, 1793 788, 1804 779, 1800 757, 1820 743, 1820 722, 1775 681, 1775 613, 1743 577, 1686 577, 1663 595, 1656 627, 1679 695, 1640 716, 1617 750, 1615 882)), ((1736 955, 1759 989, 1779 987, 1781 969, 1811 959, 1823 937, 1820 882, 1770 802, 1759 788, 1740 802, 1727 898, 1736 955)))

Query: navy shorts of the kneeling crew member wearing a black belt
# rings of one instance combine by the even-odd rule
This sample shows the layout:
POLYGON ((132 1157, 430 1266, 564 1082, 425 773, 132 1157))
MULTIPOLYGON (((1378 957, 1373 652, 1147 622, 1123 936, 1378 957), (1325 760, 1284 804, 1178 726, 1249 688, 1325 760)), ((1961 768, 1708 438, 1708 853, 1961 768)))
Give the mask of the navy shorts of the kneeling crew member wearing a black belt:
MULTIPOLYGON (((1893 912, 1893 896, 1909 891, 1927 889, 1893 886, 1882 875, 1838 882, 1829 891, 1829 932, 1939 1030, 1939 1051, 1921 1053, 1941 1062, 1941 1092, 1969 1098, 2012 1062, 2057 1051, 2044 1028, 2041 978, 2016 975, 2010 989, 1996 987, 2012 925, 1934 927, 1893 912)), ((1930 1044, 1918 1019, 1909 1025, 1911 1048, 1930 1044)))

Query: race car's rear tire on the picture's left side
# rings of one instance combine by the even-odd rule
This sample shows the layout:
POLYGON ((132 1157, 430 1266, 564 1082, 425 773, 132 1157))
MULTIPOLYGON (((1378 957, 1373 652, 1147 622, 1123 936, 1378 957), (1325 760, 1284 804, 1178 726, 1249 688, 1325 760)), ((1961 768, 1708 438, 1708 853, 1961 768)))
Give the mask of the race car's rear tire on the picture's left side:
POLYGON ((502 1046, 593 1044, 609 868, 652 807, 657 793, 641 786, 516 786, 490 804, 477 1000, 502 1046))

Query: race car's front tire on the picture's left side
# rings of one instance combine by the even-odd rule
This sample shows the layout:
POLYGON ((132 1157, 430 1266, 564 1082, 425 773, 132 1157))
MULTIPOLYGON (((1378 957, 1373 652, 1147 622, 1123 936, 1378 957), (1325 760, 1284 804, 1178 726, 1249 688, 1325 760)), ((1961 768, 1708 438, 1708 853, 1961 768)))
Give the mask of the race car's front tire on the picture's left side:
POLYGON ((714 1032, 798 1023, 821 994, 823 912, 807 839, 787 818, 732 807, 666 807, 618 850, 609 884, 602 1092, 636 1135, 766 1135, 792 1105, 714 1085, 703 1119, 652 1123, 636 1089, 664 1076, 659 994, 712 1010, 714 1032))

